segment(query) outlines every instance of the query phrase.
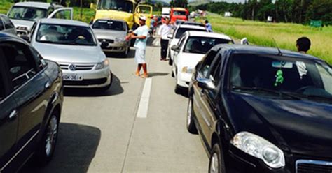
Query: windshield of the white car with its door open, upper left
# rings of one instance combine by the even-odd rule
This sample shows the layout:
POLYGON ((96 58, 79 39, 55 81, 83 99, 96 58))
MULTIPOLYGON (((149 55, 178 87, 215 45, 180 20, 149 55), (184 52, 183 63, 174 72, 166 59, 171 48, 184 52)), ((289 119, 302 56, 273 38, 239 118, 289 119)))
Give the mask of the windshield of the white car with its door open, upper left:
POLYGON ((41 8, 14 6, 8 13, 14 20, 37 20, 47 17, 47 10, 41 8))

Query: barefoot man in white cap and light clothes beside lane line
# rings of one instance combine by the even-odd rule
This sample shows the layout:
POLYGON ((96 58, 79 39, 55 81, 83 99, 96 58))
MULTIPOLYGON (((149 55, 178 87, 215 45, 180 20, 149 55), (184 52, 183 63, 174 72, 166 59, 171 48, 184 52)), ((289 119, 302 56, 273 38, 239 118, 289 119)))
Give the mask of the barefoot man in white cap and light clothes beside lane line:
POLYGON ((141 25, 132 33, 129 33, 126 37, 126 40, 136 38, 134 47, 136 48, 135 52, 135 61, 137 63, 137 70, 134 73, 137 76, 148 77, 148 70, 145 61, 145 52, 146 52, 146 41, 148 40, 148 31, 149 28, 146 26, 146 17, 141 15, 139 17, 139 24, 141 25), (141 68, 143 68, 143 75, 140 75, 141 68))

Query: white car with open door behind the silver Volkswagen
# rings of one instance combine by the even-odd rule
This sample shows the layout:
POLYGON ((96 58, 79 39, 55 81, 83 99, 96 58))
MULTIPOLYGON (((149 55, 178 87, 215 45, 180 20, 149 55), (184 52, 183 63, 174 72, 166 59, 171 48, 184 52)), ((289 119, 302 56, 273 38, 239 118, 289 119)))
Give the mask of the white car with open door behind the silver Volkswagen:
POLYGON ((7 15, 14 23, 18 36, 28 36, 39 19, 73 19, 73 8, 64 8, 56 3, 18 2, 8 10, 7 15))

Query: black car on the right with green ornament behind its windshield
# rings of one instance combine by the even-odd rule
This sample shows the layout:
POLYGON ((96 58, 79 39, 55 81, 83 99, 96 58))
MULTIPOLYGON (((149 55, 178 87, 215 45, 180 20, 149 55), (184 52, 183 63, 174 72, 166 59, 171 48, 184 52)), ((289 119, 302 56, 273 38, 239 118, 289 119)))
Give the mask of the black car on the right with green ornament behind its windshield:
POLYGON ((216 45, 195 68, 187 129, 209 172, 332 171, 332 69, 307 54, 216 45))

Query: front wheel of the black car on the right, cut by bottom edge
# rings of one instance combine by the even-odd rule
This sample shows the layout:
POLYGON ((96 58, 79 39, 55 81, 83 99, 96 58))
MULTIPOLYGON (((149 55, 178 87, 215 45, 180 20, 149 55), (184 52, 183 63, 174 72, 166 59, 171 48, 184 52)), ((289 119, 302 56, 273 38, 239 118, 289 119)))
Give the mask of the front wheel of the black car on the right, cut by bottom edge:
POLYGON ((209 173, 225 173, 225 164, 223 160, 223 153, 221 146, 216 143, 212 148, 212 153, 209 160, 209 173))

